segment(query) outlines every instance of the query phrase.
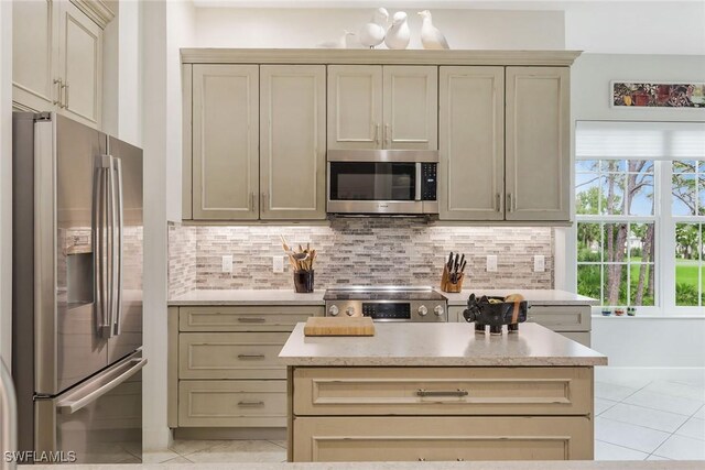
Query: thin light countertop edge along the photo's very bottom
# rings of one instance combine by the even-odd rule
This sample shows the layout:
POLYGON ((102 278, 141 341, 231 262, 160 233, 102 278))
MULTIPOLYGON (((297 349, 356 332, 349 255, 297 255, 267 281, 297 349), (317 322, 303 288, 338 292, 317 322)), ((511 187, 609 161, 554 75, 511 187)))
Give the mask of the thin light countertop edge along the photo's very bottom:
POLYGON ((316 463, 143 463, 19 466, 26 470, 702 470, 702 461, 478 461, 478 462, 316 462, 316 463))

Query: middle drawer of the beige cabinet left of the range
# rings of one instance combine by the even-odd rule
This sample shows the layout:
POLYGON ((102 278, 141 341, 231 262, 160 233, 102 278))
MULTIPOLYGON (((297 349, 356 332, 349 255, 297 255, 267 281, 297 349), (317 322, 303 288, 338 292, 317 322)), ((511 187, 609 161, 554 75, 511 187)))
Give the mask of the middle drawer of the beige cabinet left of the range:
POLYGON ((180 379, 286 379, 279 360, 286 332, 178 335, 180 379))

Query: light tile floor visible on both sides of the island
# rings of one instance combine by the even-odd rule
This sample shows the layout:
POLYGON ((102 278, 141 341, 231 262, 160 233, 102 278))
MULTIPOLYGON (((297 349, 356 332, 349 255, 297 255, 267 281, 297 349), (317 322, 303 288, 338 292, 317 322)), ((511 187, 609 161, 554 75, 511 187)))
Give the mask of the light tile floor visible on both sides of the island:
MULTIPOLYGON (((595 383, 595 460, 705 460, 705 384, 595 383)), ((148 462, 281 462, 281 440, 177 440, 148 462)))

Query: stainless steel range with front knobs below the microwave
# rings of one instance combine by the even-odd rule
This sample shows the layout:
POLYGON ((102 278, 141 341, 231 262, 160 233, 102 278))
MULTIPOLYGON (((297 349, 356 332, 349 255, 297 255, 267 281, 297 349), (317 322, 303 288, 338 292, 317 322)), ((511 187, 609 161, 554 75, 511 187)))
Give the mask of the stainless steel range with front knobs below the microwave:
POLYGON ((329 288, 326 316, 375 321, 447 321, 448 300, 432 287, 346 286, 329 288))

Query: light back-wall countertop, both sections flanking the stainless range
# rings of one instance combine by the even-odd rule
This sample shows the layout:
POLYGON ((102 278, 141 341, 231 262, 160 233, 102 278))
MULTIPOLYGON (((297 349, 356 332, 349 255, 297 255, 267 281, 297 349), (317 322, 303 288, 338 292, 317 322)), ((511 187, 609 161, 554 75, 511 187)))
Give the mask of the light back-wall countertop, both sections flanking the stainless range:
MULTIPOLYGON (((597 305, 594 298, 556 289, 464 289, 458 294, 442 294, 448 305, 465 305, 471 293, 505 297, 521 294, 534 305, 597 305)), ((172 306, 187 305, 324 305, 325 289, 296 294, 293 289, 197 289, 173 297, 172 306)))

